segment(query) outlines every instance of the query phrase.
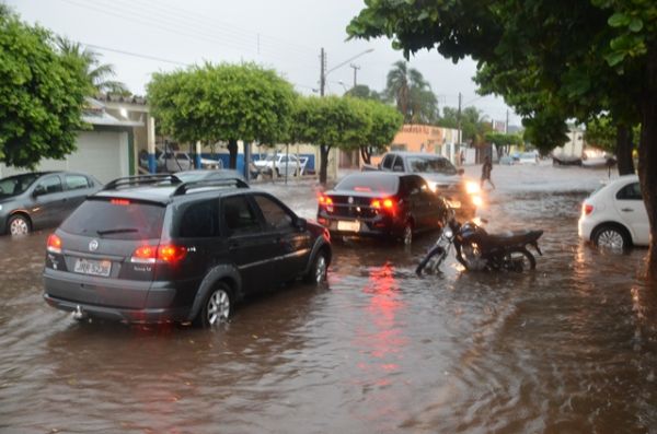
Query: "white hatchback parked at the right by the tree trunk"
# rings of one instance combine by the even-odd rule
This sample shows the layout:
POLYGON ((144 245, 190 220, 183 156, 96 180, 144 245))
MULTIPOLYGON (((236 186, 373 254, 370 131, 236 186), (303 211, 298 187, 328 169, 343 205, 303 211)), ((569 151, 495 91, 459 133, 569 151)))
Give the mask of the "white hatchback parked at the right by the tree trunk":
POLYGON ((580 238, 601 247, 647 246, 650 225, 638 176, 621 176, 588 197, 577 228, 580 238))

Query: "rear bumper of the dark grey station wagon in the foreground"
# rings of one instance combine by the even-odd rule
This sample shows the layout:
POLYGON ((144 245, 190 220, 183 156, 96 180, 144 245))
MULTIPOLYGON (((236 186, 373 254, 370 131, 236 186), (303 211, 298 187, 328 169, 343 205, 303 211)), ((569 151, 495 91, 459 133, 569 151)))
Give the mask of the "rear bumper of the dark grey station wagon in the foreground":
POLYGON ((171 282, 126 281, 46 268, 44 300, 60 310, 125 322, 186 321, 192 306, 176 306, 171 282))

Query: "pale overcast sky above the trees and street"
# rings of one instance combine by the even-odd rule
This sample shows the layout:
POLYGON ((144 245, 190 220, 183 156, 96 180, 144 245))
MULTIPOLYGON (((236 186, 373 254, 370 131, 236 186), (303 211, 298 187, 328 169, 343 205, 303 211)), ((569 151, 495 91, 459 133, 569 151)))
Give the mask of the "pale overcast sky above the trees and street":
MULTIPOLYGON (((39 23, 70 39, 92 46, 101 60, 112 63, 116 79, 135 94, 145 94, 151 73, 203 62, 255 61, 277 70, 296 89, 310 94, 319 87, 320 49, 332 70, 330 94, 343 94, 354 84, 376 91, 385 86, 392 63, 402 54, 390 40, 346 40, 345 27, 364 7, 361 0, 0 0, 21 17, 39 23), (138 55, 138 56, 132 56, 138 55)), ((474 105, 489 119, 505 120, 500 98, 481 97, 472 77, 475 63, 453 64, 437 51, 423 51, 410 66, 423 73, 440 107, 474 105)), ((509 109, 511 125, 519 119, 509 109)))

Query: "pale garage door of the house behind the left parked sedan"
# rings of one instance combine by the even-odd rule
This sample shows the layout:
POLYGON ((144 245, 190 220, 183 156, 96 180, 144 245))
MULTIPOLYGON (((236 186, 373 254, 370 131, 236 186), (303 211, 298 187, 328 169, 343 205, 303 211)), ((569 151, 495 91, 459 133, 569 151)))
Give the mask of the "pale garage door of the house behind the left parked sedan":
MULTIPOLYGON (((38 171, 73 171, 88 173, 102 183, 128 176, 128 134, 119 131, 84 131, 78 136, 78 149, 66 160, 43 160, 38 171)), ((27 172, 0 166, 5 177, 27 172)))

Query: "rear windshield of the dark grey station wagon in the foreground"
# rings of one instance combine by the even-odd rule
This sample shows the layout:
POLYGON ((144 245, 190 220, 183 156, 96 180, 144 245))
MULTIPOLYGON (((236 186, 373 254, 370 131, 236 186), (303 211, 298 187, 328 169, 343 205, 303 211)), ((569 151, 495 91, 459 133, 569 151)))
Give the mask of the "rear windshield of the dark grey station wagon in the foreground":
POLYGON ((112 239, 159 238, 165 207, 125 199, 84 201, 61 224, 78 235, 112 239))

